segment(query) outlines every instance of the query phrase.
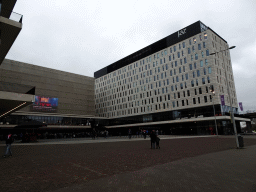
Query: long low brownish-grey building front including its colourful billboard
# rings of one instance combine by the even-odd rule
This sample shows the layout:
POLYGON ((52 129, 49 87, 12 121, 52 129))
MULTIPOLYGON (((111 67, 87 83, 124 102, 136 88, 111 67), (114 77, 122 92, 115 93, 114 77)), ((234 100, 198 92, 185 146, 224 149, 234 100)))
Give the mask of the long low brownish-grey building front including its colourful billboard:
POLYGON ((18 87, 14 85, 34 87, 35 101, 2 119, 3 124, 36 120, 48 127, 86 126, 95 116, 92 77, 5 59, 0 66, 0 89, 18 87))

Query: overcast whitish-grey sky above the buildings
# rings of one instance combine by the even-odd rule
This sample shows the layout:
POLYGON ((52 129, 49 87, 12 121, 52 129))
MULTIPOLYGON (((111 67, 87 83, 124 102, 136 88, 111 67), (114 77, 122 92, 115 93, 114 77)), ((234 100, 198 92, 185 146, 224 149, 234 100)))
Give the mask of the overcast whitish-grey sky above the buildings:
POLYGON ((256 0, 18 0, 23 28, 8 59, 94 72, 198 20, 223 37, 238 102, 256 110, 256 0))

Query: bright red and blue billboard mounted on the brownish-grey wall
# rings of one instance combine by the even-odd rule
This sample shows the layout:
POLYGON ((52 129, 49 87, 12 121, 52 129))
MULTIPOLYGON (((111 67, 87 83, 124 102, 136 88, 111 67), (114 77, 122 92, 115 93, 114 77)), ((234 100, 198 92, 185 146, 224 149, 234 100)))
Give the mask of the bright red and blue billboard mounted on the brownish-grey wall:
POLYGON ((30 105, 33 112, 57 112, 58 98, 35 96, 35 102, 30 105))

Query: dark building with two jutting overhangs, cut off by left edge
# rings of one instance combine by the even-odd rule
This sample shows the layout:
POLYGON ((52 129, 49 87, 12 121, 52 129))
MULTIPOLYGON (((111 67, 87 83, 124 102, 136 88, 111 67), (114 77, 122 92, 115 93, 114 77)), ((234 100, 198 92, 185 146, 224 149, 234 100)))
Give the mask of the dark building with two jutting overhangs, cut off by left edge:
MULTIPOLYGON (((22 29, 23 16, 14 13, 16 0, 0 0, 0 67, 22 29)), ((8 84, 0 80, 0 119, 33 103, 34 87, 8 84)))

